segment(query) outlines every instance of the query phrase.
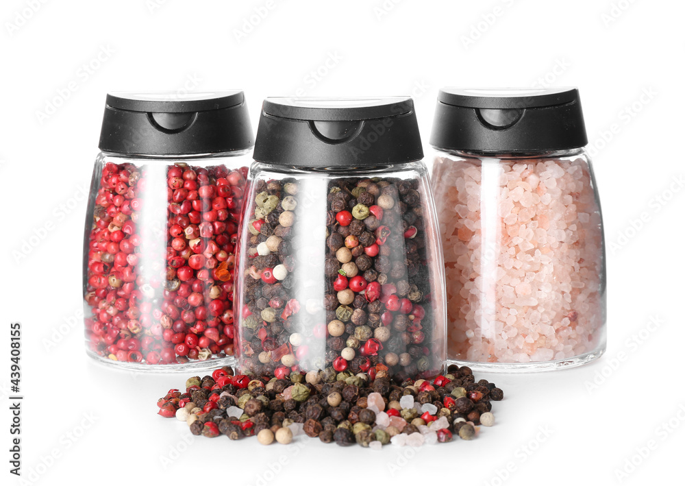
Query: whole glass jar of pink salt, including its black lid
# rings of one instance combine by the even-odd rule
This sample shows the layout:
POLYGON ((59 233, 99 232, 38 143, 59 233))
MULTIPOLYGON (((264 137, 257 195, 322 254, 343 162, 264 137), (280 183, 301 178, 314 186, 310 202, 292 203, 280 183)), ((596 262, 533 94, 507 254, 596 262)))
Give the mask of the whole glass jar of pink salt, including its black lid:
POLYGON ((577 90, 440 90, 430 143, 448 359, 537 371, 601 356, 603 224, 577 90))

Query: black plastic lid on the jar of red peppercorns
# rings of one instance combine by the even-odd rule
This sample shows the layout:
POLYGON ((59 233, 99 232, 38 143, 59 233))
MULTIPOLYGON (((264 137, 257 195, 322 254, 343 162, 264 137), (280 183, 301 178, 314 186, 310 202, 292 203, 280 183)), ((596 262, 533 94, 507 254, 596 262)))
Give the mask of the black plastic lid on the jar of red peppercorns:
POLYGON ((178 95, 110 93, 99 149, 116 154, 184 156, 249 149, 252 127, 241 90, 178 95))

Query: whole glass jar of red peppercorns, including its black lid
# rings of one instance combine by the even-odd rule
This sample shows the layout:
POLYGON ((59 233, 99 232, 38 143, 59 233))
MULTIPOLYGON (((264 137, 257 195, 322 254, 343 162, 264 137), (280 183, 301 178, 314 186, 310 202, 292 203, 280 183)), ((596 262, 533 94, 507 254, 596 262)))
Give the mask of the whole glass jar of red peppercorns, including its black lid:
POLYGON ((84 238, 90 356, 168 371, 233 355, 252 144, 242 91, 108 95, 84 238))

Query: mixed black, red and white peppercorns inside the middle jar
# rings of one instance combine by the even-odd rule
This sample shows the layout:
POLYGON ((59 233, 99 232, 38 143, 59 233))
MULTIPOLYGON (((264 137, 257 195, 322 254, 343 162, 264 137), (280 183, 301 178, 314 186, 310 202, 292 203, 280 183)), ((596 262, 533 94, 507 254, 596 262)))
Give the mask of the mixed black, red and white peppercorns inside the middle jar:
POLYGON ((321 371, 325 382, 348 370, 371 380, 440 373, 418 180, 262 179, 251 195, 240 372, 321 371))

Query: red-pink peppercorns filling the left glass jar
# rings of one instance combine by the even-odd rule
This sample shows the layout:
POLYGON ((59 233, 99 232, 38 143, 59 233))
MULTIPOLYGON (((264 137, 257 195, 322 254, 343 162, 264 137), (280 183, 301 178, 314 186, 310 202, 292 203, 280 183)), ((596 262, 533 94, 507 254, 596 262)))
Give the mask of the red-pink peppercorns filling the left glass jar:
POLYGON ((90 352, 148 364, 233 354, 246 177, 246 167, 223 165, 103 165, 87 236, 90 352))

